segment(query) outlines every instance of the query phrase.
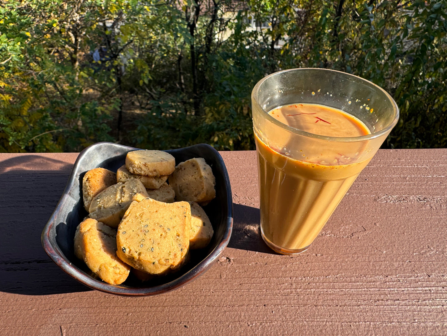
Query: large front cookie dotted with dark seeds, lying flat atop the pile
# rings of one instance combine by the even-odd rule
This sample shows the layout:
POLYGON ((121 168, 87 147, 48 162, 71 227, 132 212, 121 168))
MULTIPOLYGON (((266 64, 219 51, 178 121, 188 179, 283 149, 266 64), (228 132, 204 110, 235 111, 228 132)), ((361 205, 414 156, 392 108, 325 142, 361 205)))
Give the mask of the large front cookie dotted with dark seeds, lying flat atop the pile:
POLYGON ((117 255, 139 271, 164 274, 185 262, 190 230, 188 202, 132 202, 118 226, 117 255))

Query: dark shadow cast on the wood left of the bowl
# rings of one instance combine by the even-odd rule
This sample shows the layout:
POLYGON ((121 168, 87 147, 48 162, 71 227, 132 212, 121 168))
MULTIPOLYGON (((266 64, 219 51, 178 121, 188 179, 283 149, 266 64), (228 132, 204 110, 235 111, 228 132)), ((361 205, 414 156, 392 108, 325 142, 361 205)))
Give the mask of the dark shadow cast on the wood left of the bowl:
POLYGON ((61 272, 42 249, 40 240, 72 167, 43 155, 19 155, 0 162, 4 204, 0 291, 49 295, 90 290, 61 272))

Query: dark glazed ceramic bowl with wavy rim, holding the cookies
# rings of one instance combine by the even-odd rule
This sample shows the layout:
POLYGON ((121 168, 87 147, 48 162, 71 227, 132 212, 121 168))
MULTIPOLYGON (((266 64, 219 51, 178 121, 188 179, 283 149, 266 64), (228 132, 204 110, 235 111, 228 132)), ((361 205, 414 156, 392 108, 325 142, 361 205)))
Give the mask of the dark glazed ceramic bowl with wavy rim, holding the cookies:
POLYGON ((216 198, 203 207, 214 229, 211 243, 202 250, 191 250, 191 258, 180 271, 141 282, 132 272, 120 285, 107 284, 99 279, 82 260, 75 257, 73 239, 77 225, 88 215, 82 199, 82 178, 93 168, 116 170, 124 164, 128 151, 137 148, 99 142, 87 147, 76 159, 65 191, 42 232, 46 253, 63 271, 86 286, 106 293, 125 296, 156 295, 176 289, 206 271, 228 245, 233 224, 233 207, 227 169, 219 152, 205 144, 167 151, 176 164, 194 157, 202 157, 211 166, 216 178, 216 198))

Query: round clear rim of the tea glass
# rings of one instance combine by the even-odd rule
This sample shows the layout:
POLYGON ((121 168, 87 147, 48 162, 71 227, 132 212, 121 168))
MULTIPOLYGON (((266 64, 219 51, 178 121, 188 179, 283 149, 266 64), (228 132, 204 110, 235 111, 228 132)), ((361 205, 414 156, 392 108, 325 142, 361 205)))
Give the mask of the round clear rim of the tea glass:
POLYGON ((361 78, 361 77, 352 75, 350 73, 346 73, 346 72, 338 71, 338 70, 333 70, 333 69, 295 68, 295 69, 285 69, 285 70, 277 71, 275 73, 271 73, 270 75, 262 78, 259 82, 256 83, 256 85, 254 86, 254 88, 252 90, 251 97, 252 97, 252 102, 254 102, 254 104, 256 105, 256 108, 258 110, 261 110, 262 112, 264 112, 264 116, 267 118, 267 120, 272 122, 274 125, 277 125, 278 127, 286 129, 286 130, 288 130, 289 132, 291 132, 293 134, 305 136, 305 137, 308 137, 308 138, 315 138, 315 139, 320 139, 320 140, 326 140, 326 141, 333 141, 333 142, 359 142, 359 141, 364 141, 364 140, 371 140, 371 139, 378 138, 378 137, 382 136, 383 134, 386 134, 386 133, 390 132, 391 129, 397 124, 397 121, 399 121, 399 108, 397 107, 397 104, 394 101, 394 99, 391 97, 391 95, 388 94, 387 91, 382 89, 380 86, 374 84, 373 82, 368 81, 365 78, 361 78), (358 137, 329 137, 329 136, 325 136, 325 135, 320 135, 320 134, 314 134, 314 133, 306 132, 306 131, 303 131, 301 129, 297 129, 295 127, 283 124, 281 121, 278 121, 273 116, 270 116, 269 115, 269 111, 266 111, 259 104, 258 99, 257 99, 257 93, 258 93, 259 87, 262 85, 262 83, 266 82, 266 80, 268 80, 270 77, 277 76, 280 73, 299 72, 299 71, 303 71, 303 70, 318 70, 318 71, 324 71, 324 72, 333 73, 333 74, 341 73, 341 74, 343 74, 346 77, 355 78, 357 80, 361 80, 361 81, 369 84, 371 86, 371 89, 372 89, 372 87, 375 87, 375 88, 379 89, 380 91, 382 91, 385 94, 385 96, 391 102, 392 110, 393 110, 393 112, 395 114, 394 119, 384 129, 381 129, 380 131, 373 132, 373 133, 370 133, 370 134, 361 135, 361 136, 358 136, 358 137))

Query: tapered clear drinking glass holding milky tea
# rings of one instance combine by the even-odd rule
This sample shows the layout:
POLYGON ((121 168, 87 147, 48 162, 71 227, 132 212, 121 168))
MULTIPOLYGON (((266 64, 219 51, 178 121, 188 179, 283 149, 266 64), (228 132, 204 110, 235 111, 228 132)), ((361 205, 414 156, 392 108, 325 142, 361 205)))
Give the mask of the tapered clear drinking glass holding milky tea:
POLYGON ((396 103, 379 86, 348 73, 290 69, 259 81, 252 92, 261 234, 282 254, 312 241, 399 119, 396 103), (311 103, 337 108, 371 134, 338 138, 293 128, 269 115, 279 106, 311 103))

